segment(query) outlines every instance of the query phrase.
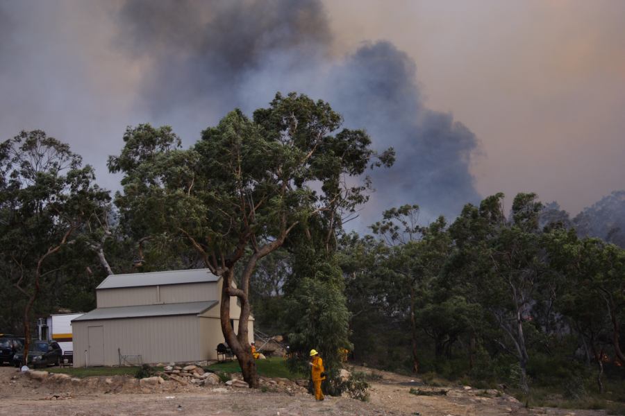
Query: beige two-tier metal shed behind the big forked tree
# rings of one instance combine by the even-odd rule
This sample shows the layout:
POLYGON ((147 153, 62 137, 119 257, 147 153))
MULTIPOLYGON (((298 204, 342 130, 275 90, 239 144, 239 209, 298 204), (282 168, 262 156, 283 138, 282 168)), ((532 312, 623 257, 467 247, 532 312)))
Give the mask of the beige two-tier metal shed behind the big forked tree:
MULTIPOLYGON (((222 279, 208 269, 110 275, 96 288, 97 309, 72 320, 74 366, 217 358, 222 279)), ((231 298, 238 327, 240 307, 231 298)), ((253 340, 253 318, 248 322, 253 340)))

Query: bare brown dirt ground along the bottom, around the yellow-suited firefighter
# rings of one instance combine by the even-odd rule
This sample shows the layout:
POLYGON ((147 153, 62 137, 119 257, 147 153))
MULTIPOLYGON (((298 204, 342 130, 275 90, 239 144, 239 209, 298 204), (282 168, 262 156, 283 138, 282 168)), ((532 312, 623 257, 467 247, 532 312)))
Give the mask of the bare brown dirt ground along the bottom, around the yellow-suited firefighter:
MULTIPOLYGON (((367 371, 357 368, 358 371, 367 371)), ((494 415, 605 415, 597 410, 526 409, 505 394, 488 395, 483 390, 449 387, 445 396, 416 396, 410 388, 427 388, 418 379, 378 372, 366 403, 346 397, 328 397, 318 402, 302 392, 273 392, 245 388, 167 388, 142 394, 91 391, 71 383, 42 383, 28 379, 13 367, 0 367, 0 415, 222 415, 222 416, 494 416, 494 415), (167 390, 167 391, 166 391, 167 390), (499 397, 497 397, 499 396, 499 397)), ((168 383, 174 383, 168 382, 168 383)), ((92 385, 98 385, 92 383, 92 385)), ((102 385, 100 383, 99 385, 102 385)), ((440 388, 437 388, 440 390, 440 388)))

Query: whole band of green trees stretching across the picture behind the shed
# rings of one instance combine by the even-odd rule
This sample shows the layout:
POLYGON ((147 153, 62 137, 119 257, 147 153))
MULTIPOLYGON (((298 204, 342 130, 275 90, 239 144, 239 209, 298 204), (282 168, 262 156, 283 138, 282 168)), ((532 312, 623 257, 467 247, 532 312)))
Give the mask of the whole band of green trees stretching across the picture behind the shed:
POLYGON ((250 313, 287 336, 294 368, 315 347, 332 371, 348 349, 388 370, 524 391, 587 374, 603 391, 606 374, 623 377, 622 248, 578 237, 533 193, 509 210, 501 193, 467 204, 451 223, 424 225, 404 205, 347 232, 372 189, 366 172, 392 166, 394 150, 341 124, 328 103, 292 93, 251 117, 234 110, 187 149, 167 126, 128 127, 108 159, 122 175, 113 196, 44 132, 4 141, 0 331, 93 309, 106 275, 209 268, 226 282, 222 332, 251 386, 250 313))

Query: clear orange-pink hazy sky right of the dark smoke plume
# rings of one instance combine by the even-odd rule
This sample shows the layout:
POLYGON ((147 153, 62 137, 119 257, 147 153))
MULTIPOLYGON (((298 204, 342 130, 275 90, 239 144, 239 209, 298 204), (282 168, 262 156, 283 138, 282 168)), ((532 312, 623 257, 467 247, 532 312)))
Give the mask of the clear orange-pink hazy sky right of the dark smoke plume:
POLYGON ((625 2, 326 4, 340 48, 392 40, 426 103, 476 134, 482 196, 534 191, 576 214, 625 188, 625 2))

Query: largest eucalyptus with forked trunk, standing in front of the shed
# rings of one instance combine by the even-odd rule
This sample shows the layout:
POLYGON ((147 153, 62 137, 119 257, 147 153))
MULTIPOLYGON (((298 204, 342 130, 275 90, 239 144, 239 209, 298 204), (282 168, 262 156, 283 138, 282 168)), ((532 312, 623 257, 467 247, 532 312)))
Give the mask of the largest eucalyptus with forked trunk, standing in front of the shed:
POLYGON ((342 215, 367 200, 370 181, 350 185, 349 177, 392 164, 392 150, 378 155, 363 130, 339 131, 341 124, 324 101, 276 94, 253 119, 230 112, 189 150, 170 128, 129 128, 122 153, 109 159, 110 171, 124 173, 122 220, 146 238, 184 241, 222 277, 222 332, 251 387, 258 377, 248 341, 249 281, 258 261, 315 218, 332 244, 342 215), (231 297, 241 306, 237 333, 231 297))

